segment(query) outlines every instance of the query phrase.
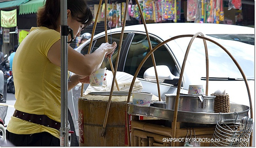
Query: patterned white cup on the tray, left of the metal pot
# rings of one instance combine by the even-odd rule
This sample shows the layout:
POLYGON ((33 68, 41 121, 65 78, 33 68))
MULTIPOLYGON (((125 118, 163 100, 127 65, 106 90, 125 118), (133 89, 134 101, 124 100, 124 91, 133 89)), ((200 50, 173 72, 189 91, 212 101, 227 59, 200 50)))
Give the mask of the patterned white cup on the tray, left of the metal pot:
POLYGON ((153 94, 146 92, 132 92, 132 102, 136 105, 150 106, 153 94))

